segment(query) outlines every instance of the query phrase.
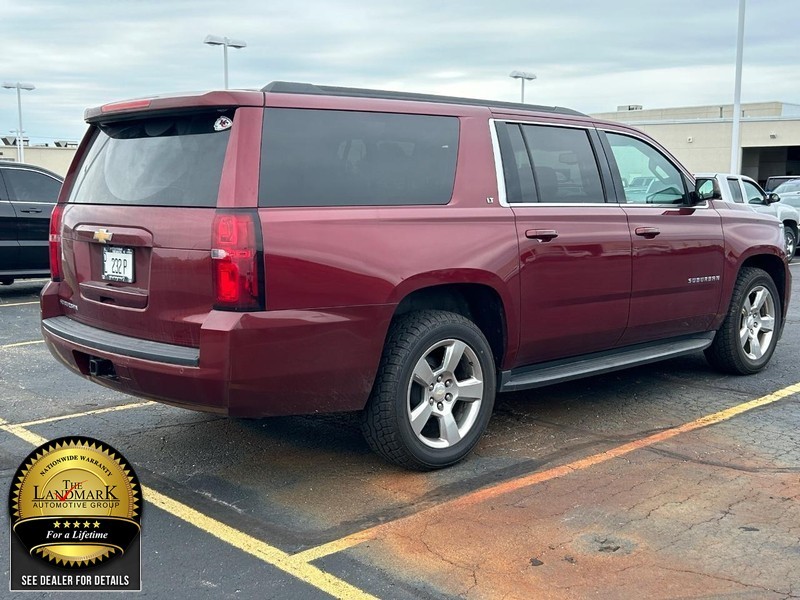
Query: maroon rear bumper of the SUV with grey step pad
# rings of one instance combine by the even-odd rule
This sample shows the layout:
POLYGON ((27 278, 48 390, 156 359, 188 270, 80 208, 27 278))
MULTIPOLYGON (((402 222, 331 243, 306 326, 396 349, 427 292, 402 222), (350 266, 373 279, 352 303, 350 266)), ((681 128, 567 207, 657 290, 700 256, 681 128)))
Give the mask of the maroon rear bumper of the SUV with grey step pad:
POLYGON ((42 292, 42 334, 69 369, 106 387, 239 417, 360 410, 369 397, 390 306, 326 311, 211 311, 200 347, 119 335, 60 314, 42 292), (55 313, 55 314, 54 314, 55 313), (91 359, 114 377, 93 377, 91 359))

